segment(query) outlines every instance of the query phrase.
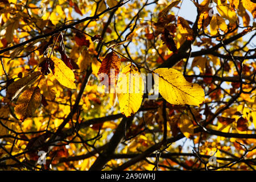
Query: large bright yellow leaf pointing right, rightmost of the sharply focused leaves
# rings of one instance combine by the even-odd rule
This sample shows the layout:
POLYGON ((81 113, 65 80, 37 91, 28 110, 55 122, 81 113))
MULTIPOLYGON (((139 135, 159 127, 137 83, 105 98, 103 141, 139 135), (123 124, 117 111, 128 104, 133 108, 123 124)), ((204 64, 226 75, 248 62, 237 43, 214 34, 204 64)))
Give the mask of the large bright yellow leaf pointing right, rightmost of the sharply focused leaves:
MULTIPOLYGON (((170 104, 189 104, 199 106, 204 102, 204 90, 198 84, 185 80, 182 73, 173 68, 158 68, 154 78, 159 79, 159 93, 170 104)), ((156 80, 155 80, 156 82, 156 80)))

